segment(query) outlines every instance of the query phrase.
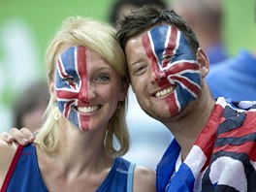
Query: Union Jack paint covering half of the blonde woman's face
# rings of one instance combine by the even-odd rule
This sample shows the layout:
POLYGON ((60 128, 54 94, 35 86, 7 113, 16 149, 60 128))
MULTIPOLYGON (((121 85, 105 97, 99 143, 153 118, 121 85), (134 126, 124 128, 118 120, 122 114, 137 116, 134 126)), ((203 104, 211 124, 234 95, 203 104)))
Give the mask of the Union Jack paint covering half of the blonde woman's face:
POLYGON ((89 116, 77 108, 89 104, 86 48, 68 48, 60 55, 56 70, 56 93, 60 112, 80 130, 88 130, 89 116))

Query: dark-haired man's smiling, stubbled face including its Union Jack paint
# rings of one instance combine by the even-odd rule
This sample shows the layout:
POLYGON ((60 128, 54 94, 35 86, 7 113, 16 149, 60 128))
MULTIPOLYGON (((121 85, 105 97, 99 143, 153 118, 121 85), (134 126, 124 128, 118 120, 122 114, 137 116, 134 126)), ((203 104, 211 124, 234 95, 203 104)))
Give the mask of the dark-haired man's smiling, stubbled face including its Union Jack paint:
POLYGON ((125 53, 138 102, 152 117, 176 116, 201 93, 196 57, 176 27, 153 27, 130 39, 125 53))

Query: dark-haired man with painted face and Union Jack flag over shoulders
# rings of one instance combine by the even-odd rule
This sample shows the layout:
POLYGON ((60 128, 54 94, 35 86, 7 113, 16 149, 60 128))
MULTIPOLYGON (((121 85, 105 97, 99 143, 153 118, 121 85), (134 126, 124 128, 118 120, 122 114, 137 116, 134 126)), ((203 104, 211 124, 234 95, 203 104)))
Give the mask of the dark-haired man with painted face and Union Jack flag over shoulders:
POLYGON ((120 21, 117 37, 140 106, 175 136, 157 166, 157 191, 255 190, 256 112, 214 101, 208 57, 185 21, 144 7, 120 21))

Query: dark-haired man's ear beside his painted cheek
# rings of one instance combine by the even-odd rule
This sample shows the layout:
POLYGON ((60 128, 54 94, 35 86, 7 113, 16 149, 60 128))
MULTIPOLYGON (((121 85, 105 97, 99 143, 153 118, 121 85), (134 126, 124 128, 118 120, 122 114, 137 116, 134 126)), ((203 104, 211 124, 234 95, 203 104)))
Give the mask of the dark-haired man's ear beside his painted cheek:
POLYGON ((209 62, 208 62, 208 56, 202 48, 198 48, 197 50, 197 62, 200 67, 202 78, 206 78, 209 71, 209 62))

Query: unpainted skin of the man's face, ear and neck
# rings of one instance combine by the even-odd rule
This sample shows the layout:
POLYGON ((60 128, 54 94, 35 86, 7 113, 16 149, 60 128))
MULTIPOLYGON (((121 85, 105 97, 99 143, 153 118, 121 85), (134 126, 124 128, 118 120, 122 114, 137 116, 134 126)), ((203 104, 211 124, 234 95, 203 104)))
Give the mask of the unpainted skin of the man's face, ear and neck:
MULTIPOLYGON (((132 87, 144 112, 165 124, 175 136, 177 143, 181 146, 181 157, 185 159, 206 125, 214 107, 214 99, 208 91, 205 80, 208 74, 208 57, 202 48, 198 48, 194 59, 198 66, 195 71, 199 74, 201 81, 199 83, 200 91, 197 91, 191 99, 184 98, 180 110, 172 111, 176 99, 171 98, 176 98, 176 94, 181 94, 178 91, 180 83, 172 80, 172 77, 176 76, 172 70, 170 73, 164 75, 158 73, 159 75, 157 75, 156 65, 152 65, 154 61, 152 61, 152 57, 148 56, 146 53, 148 51, 145 50, 144 46, 144 36, 148 31, 128 40, 125 47, 132 87), (166 88, 169 88, 169 91, 166 91, 166 88), (163 94, 157 97, 156 95, 161 91, 163 94)), ((171 53, 174 52, 174 49, 171 48, 171 50, 171 53)), ((173 55, 173 59, 176 59, 177 56, 176 54, 173 55)), ((172 67, 172 65, 171 61, 170 66, 172 67)), ((183 95, 179 96, 182 97, 183 95)))

